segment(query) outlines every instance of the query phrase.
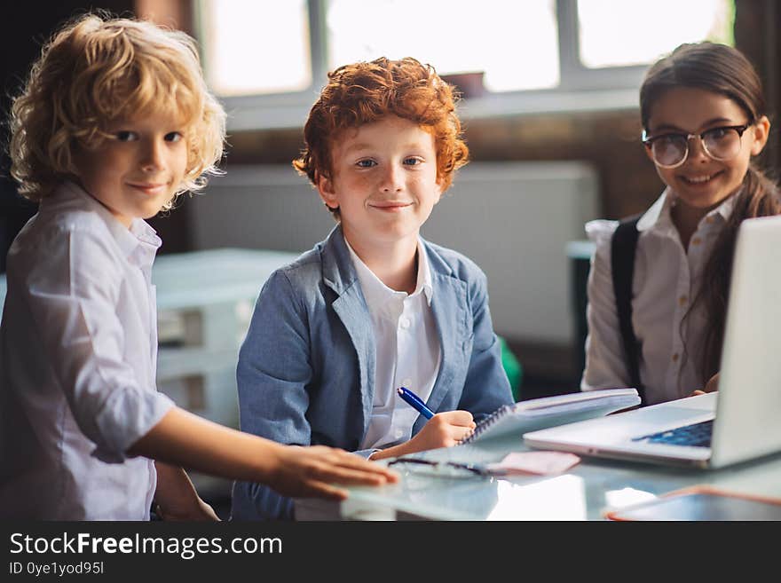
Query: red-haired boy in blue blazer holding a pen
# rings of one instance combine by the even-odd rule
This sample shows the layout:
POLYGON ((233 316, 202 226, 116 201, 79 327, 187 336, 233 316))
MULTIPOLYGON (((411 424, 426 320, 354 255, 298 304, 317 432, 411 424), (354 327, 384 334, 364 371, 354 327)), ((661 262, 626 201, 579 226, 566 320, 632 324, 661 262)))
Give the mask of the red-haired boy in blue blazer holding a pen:
MULTIPOLYGON (((453 88, 415 59, 340 67, 304 138, 294 165, 339 225, 258 297, 237 369, 241 429, 372 459, 454 445, 512 395, 485 274, 420 237, 467 161, 453 88), (430 420, 398 398, 402 385, 430 420)), ((245 482, 233 516, 293 508, 245 482)))

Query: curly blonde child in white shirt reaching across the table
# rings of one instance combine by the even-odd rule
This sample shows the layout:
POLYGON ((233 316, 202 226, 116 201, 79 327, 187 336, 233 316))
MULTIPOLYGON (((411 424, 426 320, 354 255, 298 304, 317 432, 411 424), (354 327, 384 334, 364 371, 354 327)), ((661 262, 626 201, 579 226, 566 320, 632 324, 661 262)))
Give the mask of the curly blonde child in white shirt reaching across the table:
POLYGON ((143 220, 205 184, 225 113, 192 39, 87 15, 55 35, 12 108, 12 173, 40 202, 8 255, 0 326, 0 515, 215 519, 184 465, 296 496, 394 479, 358 456, 283 447, 155 388, 143 220), (156 462, 154 461, 156 460, 156 462))

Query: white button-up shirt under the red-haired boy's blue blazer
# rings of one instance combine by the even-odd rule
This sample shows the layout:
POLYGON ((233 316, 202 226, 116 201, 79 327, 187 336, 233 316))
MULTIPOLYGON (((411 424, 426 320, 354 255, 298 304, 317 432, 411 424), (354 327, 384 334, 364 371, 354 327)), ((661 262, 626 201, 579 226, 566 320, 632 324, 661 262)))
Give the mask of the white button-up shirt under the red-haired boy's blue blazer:
MULTIPOLYGON (((345 240, 345 243, 347 241, 345 240)), ((414 292, 386 286, 347 243, 358 272, 375 333, 375 398, 361 449, 383 448, 407 441, 420 415, 398 397, 404 386, 425 403, 437 380, 441 360, 437 324, 431 312, 431 272, 418 240, 418 273, 414 292)))

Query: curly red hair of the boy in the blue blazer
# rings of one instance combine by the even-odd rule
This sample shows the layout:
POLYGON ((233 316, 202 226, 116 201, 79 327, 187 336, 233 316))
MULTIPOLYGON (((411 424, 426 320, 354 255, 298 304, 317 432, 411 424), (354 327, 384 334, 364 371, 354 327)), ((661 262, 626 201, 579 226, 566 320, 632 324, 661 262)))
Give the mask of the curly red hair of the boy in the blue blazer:
MULTIPOLYGON (((328 83, 304 125, 304 150, 293 167, 317 185, 333 177, 331 151, 344 130, 396 115, 430 131, 437 151, 437 178, 444 193, 453 174, 469 162, 455 112, 460 95, 434 67, 411 57, 344 65, 328 74, 328 83)), ((331 209, 338 217, 338 209, 331 209)))

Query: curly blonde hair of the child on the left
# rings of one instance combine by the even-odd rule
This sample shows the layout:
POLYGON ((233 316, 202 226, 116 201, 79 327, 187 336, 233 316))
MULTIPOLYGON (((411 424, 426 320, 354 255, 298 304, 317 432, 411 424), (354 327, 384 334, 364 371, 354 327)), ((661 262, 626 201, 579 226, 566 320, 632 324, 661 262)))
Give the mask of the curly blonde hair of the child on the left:
POLYGON ((40 201, 75 177, 77 148, 94 149, 111 124, 152 112, 187 128, 177 196, 201 190, 225 144, 225 111, 207 89, 193 38, 151 22, 86 14, 43 47, 11 110, 11 173, 40 201))

